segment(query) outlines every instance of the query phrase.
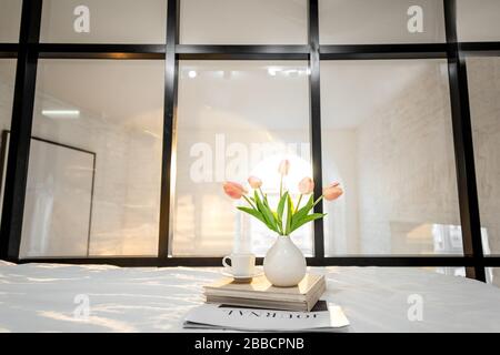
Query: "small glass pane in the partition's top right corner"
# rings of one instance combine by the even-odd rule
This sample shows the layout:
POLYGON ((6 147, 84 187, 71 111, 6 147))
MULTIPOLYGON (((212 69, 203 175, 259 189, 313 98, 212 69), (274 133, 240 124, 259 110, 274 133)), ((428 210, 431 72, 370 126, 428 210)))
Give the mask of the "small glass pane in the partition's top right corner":
POLYGON ((457 31, 462 42, 500 40, 499 0, 457 0, 457 31))

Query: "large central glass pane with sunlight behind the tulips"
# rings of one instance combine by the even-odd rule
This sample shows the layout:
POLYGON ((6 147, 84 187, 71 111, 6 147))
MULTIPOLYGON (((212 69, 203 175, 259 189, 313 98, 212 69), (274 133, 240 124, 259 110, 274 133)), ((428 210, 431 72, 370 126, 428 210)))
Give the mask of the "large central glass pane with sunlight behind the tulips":
MULTIPOLYGON (((306 61, 181 61, 173 213, 173 255, 228 254, 233 240, 263 255, 274 241, 266 226, 236 210, 226 180, 263 180, 279 195, 278 164, 291 161, 286 183, 311 174, 306 61)), ((293 241, 312 253, 312 229, 293 241)))

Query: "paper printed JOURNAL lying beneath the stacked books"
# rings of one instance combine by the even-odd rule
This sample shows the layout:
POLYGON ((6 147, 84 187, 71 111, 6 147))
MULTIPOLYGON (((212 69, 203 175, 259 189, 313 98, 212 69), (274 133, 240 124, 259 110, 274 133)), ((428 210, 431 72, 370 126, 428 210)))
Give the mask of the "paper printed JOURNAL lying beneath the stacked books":
POLYGON ((270 311, 203 304, 184 317, 184 328, 247 332, 342 332, 349 321, 342 308, 319 301, 311 312, 270 311))

